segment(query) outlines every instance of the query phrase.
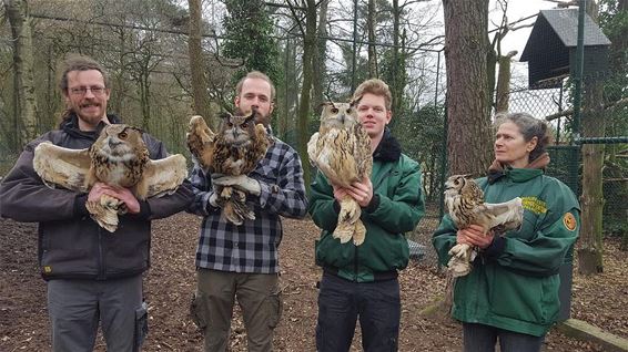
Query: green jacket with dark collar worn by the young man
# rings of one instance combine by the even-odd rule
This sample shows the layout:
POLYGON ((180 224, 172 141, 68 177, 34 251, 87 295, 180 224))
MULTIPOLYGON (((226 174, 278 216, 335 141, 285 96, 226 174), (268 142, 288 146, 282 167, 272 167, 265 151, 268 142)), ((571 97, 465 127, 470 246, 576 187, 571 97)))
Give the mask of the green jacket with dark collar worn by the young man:
POLYGON ((312 183, 310 196, 308 211, 323 229, 316 244, 316 263, 356 282, 396 277, 397 270, 407 266, 409 252, 404 232, 412 231, 425 213, 421 167, 401 153, 389 133, 373 157, 374 200, 362 211, 366 238, 361 246, 353 241, 341 244, 332 237, 340 207, 332 186, 321 173, 312 183))

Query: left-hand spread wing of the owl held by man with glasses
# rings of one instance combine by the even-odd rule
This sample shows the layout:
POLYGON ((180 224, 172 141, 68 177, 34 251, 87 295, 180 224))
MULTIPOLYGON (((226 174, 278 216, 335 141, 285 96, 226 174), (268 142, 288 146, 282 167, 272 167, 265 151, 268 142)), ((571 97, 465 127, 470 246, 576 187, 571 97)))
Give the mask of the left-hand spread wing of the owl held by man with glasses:
POLYGON ((33 168, 43 183, 74 191, 88 191, 93 183, 90 176, 89 149, 70 149, 50 142, 42 142, 34 148, 33 168))

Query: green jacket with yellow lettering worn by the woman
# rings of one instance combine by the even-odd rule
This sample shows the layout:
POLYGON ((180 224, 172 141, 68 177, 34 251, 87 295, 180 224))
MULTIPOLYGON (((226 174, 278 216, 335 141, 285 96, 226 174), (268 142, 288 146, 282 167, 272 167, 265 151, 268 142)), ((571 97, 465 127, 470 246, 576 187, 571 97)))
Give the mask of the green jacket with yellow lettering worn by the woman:
MULTIPOLYGON (((524 224, 496 237, 474 261, 472 272, 456 280, 454 318, 536 337, 558 318, 558 269, 578 238, 580 207, 574 193, 540 169, 506 169, 489 184, 477 180, 486 203, 521 197, 524 224)), ((448 215, 432 242, 442 265, 456 242, 448 215)), ((570 260, 570 259, 568 259, 570 260)))

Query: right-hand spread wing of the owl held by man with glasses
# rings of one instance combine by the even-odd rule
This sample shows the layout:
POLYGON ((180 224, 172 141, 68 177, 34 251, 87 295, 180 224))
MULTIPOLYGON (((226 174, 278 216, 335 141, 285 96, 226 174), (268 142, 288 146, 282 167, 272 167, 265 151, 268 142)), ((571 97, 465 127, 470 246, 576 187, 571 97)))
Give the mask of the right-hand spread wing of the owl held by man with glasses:
POLYGON ((142 179, 135 185, 135 196, 145 199, 173 194, 185 177, 188 177, 188 166, 185 157, 181 154, 149 161, 142 173, 142 179))

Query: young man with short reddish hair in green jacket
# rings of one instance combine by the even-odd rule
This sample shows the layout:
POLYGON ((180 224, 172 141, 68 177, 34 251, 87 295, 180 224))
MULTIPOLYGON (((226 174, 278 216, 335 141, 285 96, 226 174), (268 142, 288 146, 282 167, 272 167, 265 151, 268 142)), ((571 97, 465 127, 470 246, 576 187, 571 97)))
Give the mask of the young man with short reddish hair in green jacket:
POLYGON ((391 122, 391 91, 381 80, 363 82, 359 122, 371 137, 373 173, 351 188, 331 185, 321 173, 311 188, 310 214, 323 229, 316 262, 323 267, 318 294, 316 350, 348 351, 359 318, 364 351, 396 351, 401 320, 397 273, 408 263, 404 232, 412 231, 425 211, 421 167, 402 154, 386 125, 391 122), (362 207, 364 244, 333 238, 340 205, 351 195, 362 207))

